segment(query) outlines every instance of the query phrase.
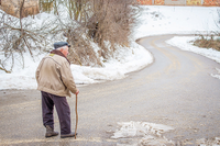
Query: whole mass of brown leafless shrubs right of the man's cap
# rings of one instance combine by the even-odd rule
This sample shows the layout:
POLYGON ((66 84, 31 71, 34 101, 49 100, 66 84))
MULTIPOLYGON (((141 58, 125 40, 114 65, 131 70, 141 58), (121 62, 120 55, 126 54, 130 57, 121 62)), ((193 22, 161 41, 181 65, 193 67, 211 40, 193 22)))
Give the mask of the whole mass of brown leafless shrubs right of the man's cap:
POLYGON ((129 46, 129 36, 135 22, 136 9, 135 0, 81 0, 72 1, 74 20, 82 26, 76 33, 69 31, 68 41, 73 44, 75 54, 74 64, 98 65, 99 57, 108 59, 116 50, 114 45, 129 46), (73 9, 76 7, 77 9, 73 9), (86 9, 87 8, 87 9, 86 9), (89 9, 88 9, 89 8, 89 9), (86 11, 85 11, 86 10, 86 11), (101 48, 98 56, 90 48, 90 43, 81 37, 82 33, 87 40, 94 41, 101 48), (80 34, 80 35, 77 35, 80 34), (107 43, 110 46, 107 46, 107 43), (77 58, 79 59, 76 60, 77 58), (77 63, 78 61, 78 63, 77 63))

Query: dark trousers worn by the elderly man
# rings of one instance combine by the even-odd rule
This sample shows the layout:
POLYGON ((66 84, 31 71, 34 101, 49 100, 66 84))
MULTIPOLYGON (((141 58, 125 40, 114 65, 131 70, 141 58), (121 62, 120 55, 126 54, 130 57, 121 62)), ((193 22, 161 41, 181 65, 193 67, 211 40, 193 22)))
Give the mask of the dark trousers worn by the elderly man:
POLYGON ((42 93, 42 116, 44 126, 50 125, 54 128, 54 105, 59 119, 61 134, 69 134, 70 126, 70 109, 66 97, 58 97, 44 91, 42 93))

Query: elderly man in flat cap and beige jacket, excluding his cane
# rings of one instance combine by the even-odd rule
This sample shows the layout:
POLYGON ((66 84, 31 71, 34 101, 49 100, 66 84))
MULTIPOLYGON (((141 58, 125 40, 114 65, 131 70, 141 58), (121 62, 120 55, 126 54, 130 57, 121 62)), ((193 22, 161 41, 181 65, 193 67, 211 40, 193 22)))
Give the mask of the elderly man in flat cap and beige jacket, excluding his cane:
POLYGON ((61 137, 74 137, 75 133, 70 130, 70 109, 66 97, 70 97, 70 92, 78 94, 74 78, 70 71, 70 63, 66 58, 68 54, 67 42, 57 42, 50 55, 45 56, 37 69, 36 81, 37 90, 42 93, 42 115, 43 124, 46 127, 45 137, 58 135, 54 132, 54 105, 56 108, 61 137))

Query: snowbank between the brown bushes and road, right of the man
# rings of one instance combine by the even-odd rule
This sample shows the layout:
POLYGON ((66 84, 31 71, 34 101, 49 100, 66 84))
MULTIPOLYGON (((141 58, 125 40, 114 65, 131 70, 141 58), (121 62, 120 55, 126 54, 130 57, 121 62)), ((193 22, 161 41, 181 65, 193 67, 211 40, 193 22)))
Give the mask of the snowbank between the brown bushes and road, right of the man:
POLYGON ((103 68, 72 65, 72 70, 76 83, 95 83, 125 78, 125 74, 151 64, 152 58, 152 55, 145 48, 133 42, 130 48, 119 48, 112 59, 103 63, 103 68))

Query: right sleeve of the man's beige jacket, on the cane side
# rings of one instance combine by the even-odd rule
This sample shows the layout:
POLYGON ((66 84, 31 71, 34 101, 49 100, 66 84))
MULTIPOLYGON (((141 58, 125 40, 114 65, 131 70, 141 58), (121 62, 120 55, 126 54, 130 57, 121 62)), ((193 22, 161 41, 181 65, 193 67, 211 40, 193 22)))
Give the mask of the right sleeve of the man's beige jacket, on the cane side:
POLYGON ((74 77, 72 75, 70 66, 68 61, 65 61, 61 67, 61 77, 63 83, 73 92, 76 93, 77 88, 74 81, 74 77))

